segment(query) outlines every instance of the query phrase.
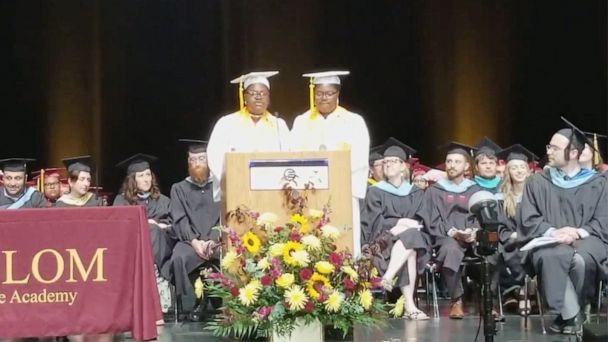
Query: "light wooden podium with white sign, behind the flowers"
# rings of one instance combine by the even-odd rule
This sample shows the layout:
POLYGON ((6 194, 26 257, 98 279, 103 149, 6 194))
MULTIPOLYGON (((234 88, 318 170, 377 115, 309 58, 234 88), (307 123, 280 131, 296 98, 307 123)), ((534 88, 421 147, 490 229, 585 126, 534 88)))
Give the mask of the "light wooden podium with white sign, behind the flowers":
MULTIPOLYGON (((349 151, 228 152, 222 177, 222 218, 239 206, 273 212, 278 224, 289 221, 282 186, 312 183, 306 209, 331 208, 331 225, 341 230, 339 249, 353 251, 349 151)), ((300 190, 303 191, 303 190, 300 190)), ((304 214, 307 214, 305 211, 304 214)))

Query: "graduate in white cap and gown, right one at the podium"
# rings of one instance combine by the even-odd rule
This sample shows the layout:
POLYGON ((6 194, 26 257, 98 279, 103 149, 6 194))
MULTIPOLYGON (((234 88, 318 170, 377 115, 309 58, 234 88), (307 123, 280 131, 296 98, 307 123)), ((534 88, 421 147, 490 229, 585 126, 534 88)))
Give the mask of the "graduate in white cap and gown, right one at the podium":
POLYGON ((353 255, 361 252, 359 200, 365 198, 369 171, 369 132, 361 115, 339 106, 340 77, 348 71, 304 74, 310 77, 310 109, 296 117, 293 151, 349 150, 353 209, 353 255))

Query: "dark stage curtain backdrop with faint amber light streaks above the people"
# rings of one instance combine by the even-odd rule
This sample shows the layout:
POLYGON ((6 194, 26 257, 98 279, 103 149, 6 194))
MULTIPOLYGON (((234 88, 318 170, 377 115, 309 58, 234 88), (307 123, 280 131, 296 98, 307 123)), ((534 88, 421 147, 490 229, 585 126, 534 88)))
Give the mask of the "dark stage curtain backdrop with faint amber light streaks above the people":
POLYGON ((291 125, 308 106, 300 75, 334 68, 351 71, 340 103, 372 144, 392 135, 436 164, 444 142, 487 135, 542 155, 560 115, 608 131, 606 3, 5 0, 0 157, 90 153, 115 191, 113 165, 151 153, 168 192, 185 175, 176 140, 236 110, 230 79, 281 71, 272 110, 291 125))

